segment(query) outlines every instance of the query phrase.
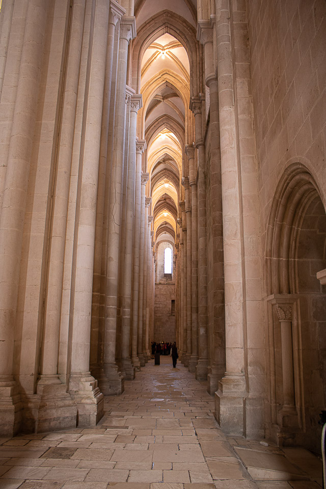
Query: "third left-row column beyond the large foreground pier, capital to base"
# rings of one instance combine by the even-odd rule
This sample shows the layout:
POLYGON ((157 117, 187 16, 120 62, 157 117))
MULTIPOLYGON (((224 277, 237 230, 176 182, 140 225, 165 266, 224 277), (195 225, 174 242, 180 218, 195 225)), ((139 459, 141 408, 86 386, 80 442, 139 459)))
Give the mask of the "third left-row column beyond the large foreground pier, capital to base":
POLYGON ((136 370, 140 370, 137 355, 138 342, 138 300, 139 300, 139 273, 140 273, 140 233, 141 233, 141 199, 142 199, 142 154, 146 149, 146 141, 136 143, 136 174, 134 199, 134 231, 133 231, 133 279, 132 279, 132 334, 131 334, 131 362, 136 370))

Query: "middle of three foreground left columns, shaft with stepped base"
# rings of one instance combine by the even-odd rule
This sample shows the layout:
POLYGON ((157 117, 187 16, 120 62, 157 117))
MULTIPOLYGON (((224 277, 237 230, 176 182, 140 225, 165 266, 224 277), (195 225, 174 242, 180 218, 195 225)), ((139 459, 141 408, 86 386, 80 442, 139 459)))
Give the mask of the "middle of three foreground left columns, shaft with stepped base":
MULTIPOLYGON (((76 406, 73 405, 73 401, 67 393, 67 385, 62 384, 59 379, 58 356, 72 142, 75 129, 74 121, 84 15, 85 1, 81 0, 74 5, 71 20, 71 38, 68 50, 69 63, 67 64, 64 88, 65 103, 58 143, 56 188, 52 203, 48 278, 44 300, 42 355, 40 359, 40 377, 37 385, 37 394, 40 396, 37 428, 42 431, 59 429, 63 426, 76 426, 76 406), (63 140, 64 143, 62 144, 63 140), (41 401, 42 397, 46 398, 46 402, 41 401)), ((102 56, 104 55, 105 50, 102 53, 102 56)))

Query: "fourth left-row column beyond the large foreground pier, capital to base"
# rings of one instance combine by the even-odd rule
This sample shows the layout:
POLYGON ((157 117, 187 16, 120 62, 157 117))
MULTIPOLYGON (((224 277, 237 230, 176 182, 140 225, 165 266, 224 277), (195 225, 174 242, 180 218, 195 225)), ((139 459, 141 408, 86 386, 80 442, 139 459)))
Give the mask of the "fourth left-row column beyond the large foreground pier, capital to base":
MULTIPOLYGON (((141 222, 140 222, 140 259, 139 259, 139 294, 138 294, 138 341, 137 354, 140 366, 144 367, 145 358, 143 352, 143 307, 144 307, 144 240, 145 240, 145 189, 149 174, 142 174, 142 193, 141 193, 141 222)), ((148 216, 148 214, 147 214, 148 216)))

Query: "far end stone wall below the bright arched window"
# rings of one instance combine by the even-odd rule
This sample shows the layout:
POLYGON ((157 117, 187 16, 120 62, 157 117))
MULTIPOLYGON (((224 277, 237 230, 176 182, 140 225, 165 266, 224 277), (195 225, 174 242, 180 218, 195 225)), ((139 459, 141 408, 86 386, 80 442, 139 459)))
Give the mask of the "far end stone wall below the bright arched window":
POLYGON ((175 316, 171 302, 175 301, 175 284, 155 284, 154 341, 176 341, 175 316))

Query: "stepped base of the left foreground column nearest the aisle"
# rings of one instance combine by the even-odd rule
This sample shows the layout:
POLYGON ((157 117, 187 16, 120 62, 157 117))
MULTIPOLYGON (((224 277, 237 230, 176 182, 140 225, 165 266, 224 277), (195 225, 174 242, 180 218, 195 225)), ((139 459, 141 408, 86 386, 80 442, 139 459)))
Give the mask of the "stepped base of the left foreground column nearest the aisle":
POLYGON ((96 426, 104 414, 104 396, 91 373, 72 373, 69 392, 77 407, 77 426, 96 426))

